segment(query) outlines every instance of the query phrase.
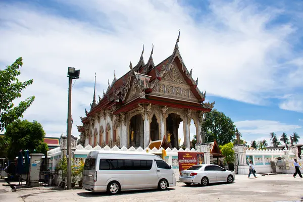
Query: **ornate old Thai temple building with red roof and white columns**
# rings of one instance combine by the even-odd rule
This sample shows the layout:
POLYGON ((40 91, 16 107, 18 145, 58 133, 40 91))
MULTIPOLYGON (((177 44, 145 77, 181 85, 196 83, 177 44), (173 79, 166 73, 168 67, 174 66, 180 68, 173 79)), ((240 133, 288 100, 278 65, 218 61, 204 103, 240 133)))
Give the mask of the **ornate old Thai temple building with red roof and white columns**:
MULTIPOLYGON (((146 148, 150 141, 165 140, 170 147, 178 147, 180 138, 190 148, 190 123, 193 120, 197 143, 204 143, 200 125, 204 113, 214 103, 204 103, 205 92, 198 87, 192 70, 188 71, 181 58, 178 42, 173 54, 158 65, 153 61, 153 49, 147 63, 143 51, 136 65, 121 78, 109 82, 106 92, 96 103, 95 90, 89 112, 77 126, 83 146, 117 145, 146 148), (178 134, 180 123, 183 133, 178 134)), ((193 132, 191 132, 193 133, 193 132)))

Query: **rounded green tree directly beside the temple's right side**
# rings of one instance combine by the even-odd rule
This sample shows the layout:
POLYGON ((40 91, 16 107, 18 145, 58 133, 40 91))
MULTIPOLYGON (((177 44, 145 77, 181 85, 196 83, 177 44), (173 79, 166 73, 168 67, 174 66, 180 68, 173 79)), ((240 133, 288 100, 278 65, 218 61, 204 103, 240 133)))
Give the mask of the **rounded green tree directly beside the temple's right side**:
POLYGON ((205 114, 201 129, 205 132, 206 142, 213 142, 216 139, 219 145, 224 145, 233 141, 235 137, 233 121, 217 110, 205 114))

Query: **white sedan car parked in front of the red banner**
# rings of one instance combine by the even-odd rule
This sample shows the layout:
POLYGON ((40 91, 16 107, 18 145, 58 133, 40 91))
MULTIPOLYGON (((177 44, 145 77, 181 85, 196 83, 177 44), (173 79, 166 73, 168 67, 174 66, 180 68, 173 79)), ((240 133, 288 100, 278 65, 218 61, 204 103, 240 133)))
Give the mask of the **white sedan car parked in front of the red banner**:
POLYGON ((180 181, 188 186, 192 183, 203 186, 216 182, 232 183, 234 180, 235 174, 233 172, 213 164, 194 165, 180 172, 180 181))

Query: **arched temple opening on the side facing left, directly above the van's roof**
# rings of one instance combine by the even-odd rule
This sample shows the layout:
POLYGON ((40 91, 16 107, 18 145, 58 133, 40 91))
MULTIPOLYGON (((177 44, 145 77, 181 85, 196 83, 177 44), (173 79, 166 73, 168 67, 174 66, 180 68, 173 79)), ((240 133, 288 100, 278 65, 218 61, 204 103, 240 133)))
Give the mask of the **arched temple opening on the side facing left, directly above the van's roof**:
POLYGON ((140 114, 133 116, 129 124, 129 146, 143 148, 144 123, 140 114))

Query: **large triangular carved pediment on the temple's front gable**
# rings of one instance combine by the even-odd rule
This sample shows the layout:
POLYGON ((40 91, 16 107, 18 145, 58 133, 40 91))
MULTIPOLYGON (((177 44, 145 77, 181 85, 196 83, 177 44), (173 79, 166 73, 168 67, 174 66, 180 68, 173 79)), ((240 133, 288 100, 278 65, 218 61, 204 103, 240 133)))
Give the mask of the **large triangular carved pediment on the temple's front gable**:
POLYGON ((161 81, 153 88, 151 94, 198 102, 198 98, 190 90, 190 86, 187 84, 175 62, 173 62, 170 70, 163 74, 161 81))

